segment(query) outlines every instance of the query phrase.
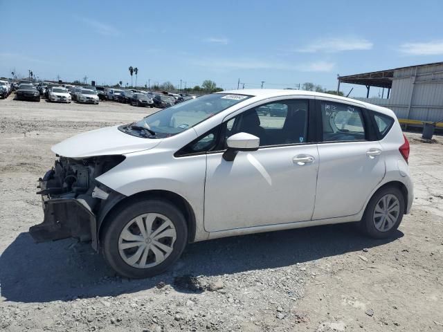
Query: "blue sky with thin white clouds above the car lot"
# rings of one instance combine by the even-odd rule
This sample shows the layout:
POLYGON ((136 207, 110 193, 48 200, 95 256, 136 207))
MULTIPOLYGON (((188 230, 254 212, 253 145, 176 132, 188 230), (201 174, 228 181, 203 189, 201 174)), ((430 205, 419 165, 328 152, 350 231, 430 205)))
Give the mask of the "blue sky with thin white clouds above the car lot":
MULTIPOLYGON (((224 89, 336 89, 349 75, 443 59, 443 1, 0 0, 0 76, 224 89), (134 77, 135 83, 135 77, 134 77)), ((351 86, 343 84, 345 93, 351 86)), ((371 95, 377 95, 378 88, 371 95)), ((354 89, 352 95, 363 95, 354 89)))

